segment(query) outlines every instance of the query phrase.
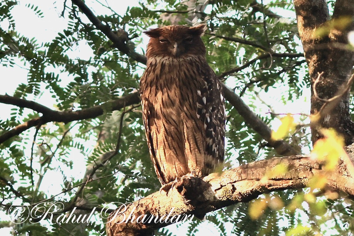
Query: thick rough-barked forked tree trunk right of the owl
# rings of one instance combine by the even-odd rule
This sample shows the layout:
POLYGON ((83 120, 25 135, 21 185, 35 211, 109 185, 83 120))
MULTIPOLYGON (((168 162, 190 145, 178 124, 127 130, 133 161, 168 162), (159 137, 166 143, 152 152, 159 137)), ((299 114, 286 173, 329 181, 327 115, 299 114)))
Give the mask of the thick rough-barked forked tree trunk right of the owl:
MULTIPOLYGON (((330 27, 326 24, 330 20, 327 2, 325 0, 295 0, 294 5, 311 80, 311 114, 316 114, 324 104, 321 99, 332 98, 352 74, 354 52, 344 48, 344 45, 348 42, 347 33, 353 30, 353 24, 349 24, 344 30, 333 28, 327 36, 314 37, 316 29, 330 27), (321 98, 318 99, 314 94, 313 85, 318 78, 318 73, 322 72, 316 85, 316 92, 321 98)), ((332 21, 353 15, 354 1, 336 1, 332 21)), ((321 137, 318 127, 335 128, 345 137, 346 145, 353 143, 354 126, 349 114, 349 92, 342 97, 339 104, 329 114, 321 117, 316 127, 312 126, 313 143, 321 137)))

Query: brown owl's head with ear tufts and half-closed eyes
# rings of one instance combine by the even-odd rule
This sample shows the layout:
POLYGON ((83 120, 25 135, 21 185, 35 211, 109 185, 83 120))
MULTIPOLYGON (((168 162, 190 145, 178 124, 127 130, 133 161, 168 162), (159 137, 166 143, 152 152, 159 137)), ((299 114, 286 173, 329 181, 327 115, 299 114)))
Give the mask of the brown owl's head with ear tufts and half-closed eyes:
POLYGON ((200 24, 194 27, 168 25, 145 31, 144 33, 150 37, 146 56, 147 58, 205 56, 205 46, 200 38, 205 30, 206 25, 200 24))

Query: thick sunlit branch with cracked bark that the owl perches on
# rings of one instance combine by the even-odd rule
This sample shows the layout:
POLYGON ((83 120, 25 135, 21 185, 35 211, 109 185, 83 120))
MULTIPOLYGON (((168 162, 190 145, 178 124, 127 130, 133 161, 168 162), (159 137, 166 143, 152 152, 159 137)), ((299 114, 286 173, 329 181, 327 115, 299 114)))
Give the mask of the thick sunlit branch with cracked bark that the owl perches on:
MULTIPOLYGON (((171 223, 137 223, 135 219, 140 215, 161 217, 172 212, 170 219, 178 214, 204 215, 238 202, 249 202, 272 191, 304 188, 308 180, 316 174, 327 176, 327 185, 331 188, 354 196, 354 167, 348 157, 343 157, 333 172, 322 170, 321 164, 309 156, 273 158, 242 165, 219 176, 213 173, 203 180, 183 178, 167 196, 155 192, 127 206, 124 213, 116 217, 115 212, 112 213, 109 219, 113 220, 106 225, 107 235, 148 235, 149 232, 171 223), (272 174, 272 169, 279 164, 285 165, 288 171, 272 174), (127 218, 131 213, 133 220, 132 217, 127 218), (124 222, 119 223, 121 221, 124 222)), ((118 208, 116 212, 122 211, 118 208)))

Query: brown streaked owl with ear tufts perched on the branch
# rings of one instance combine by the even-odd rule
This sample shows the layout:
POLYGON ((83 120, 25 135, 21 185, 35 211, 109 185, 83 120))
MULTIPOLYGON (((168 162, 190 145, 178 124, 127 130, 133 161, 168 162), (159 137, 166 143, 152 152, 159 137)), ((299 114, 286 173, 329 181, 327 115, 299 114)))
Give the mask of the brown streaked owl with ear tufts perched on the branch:
POLYGON ((206 62, 205 24, 169 25, 150 37, 140 82, 151 159, 162 185, 186 174, 208 175, 224 160, 225 101, 206 62))

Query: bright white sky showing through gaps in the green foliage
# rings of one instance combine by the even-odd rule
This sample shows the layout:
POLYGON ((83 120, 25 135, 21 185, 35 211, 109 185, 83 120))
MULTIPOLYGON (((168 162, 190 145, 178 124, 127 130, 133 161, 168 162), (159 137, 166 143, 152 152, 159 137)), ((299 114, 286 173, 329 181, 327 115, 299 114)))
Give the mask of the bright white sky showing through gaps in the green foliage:
MULTIPOLYGON (((105 2, 105 1, 102 1, 105 2)), ((107 0, 108 4, 118 13, 123 14, 127 7, 137 6, 137 0, 107 0)), ((86 4, 90 9, 95 9, 94 12, 96 15, 109 15, 111 12, 108 8, 103 7, 95 0, 86 0, 86 4)), ((67 1, 67 5, 71 5, 71 1, 67 1)), ((13 17, 16 22, 16 30, 27 36, 28 38, 36 38, 38 42, 49 42, 53 38, 55 38, 58 32, 61 32, 66 28, 67 18, 60 17, 61 12, 63 10, 63 1, 53 1, 50 0, 42 0, 42 1, 30 1, 30 0, 19 0, 19 4, 13 8, 13 17), (26 4, 37 4, 39 9, 43 12, 44 17, 39 18, 34 14, 30 8, 26 7, 26 4)), ((6 22, 2 23, 3 27, 6 27, 6 22)), ((143 36, 142 36, 143 37, 143 36)), ((147 42, 146 40, 144 40, 147 42)), ((144 45, 145 47, 145 45, 144 45)), ((72 53, 73 57, 80 57, 81 59, 87 59, 91 56, 91 49, 85 45, 84 43, 79 44, 78 47, 74 48, 74 52, 72 53)), ((22 62, 18 61, 18 64, 15 67, 1 67, 0 66, 0 74, 2 75, 2 80, 6 81, 6 84, 0 86, 0 94, 7 93, 8 95, 12 95, 15 91, 16 87, 20 83, 27 83, 27 73, 28 71, 25 69, 25 65, 22 62)), ((229 85, 231 86, 231 85, 229 85)), ((284 87, 285 89, 285 87, 284 87)), ((309 113, 309 101, 306 100, 306 97, 309 97, 309 90, 304 91, 304 95, 296 102, 292 104, 282 104, 280 93, 284 90, 282 86, 278 88, 270 88, 269 92, 264 93, 261 91, 260 96, 267 104, 276 104, 273 108, 276 113, 309 113)), ((41 98, 34 98, 33 96, 29 96, 27 99, 35 100, 47 107, 53 108, 53 104, 55 104, 55 100, 51 98, 50 94, 44 93, 41 98)), ((247 103, 247 101, 246 101, 247 103)), ((0 110, 2 111, 1 116, 6 117, 11 113, 11 105, 0 104, 0 110)), ((257 107, 257 114, 265 114, 269 111, 268 107, 259 102, 259 107, 257 107)), ((296 116, 295 116, 295 119, 296 116)), ((279 122, 272 123, 274 127, 279 126, 279 122)), ((34 131, 33 131, 34 132, 34 131)), ((82 177, 85 172, 85 164, 83 165, 83 158, 80 157, 80 153, 73 153, 75 159, 79 159, 81 161, 77 161, 74 163, 73 170, 67 169, 69 175, 76 176, 77 178, 82 177)), ((53 179, 61 178, 61 175, 51 172, 50 178, 44 178, 47 182, 42 183, 42 189, 58 189, 60 186, 55 186, 53 183, 53 179)), ((61 191, 60 188, 58 191, 61 191)), ((56 192, 56 191, 55 191, 56 192)), ((4 214, 0 213, 0 219, 6 220, 4 214)), ((213 235, 217 234, 216 230, 212 223, 205 222, 203 226, 204 230, 200 231, 200 234, 196 235, 213 235)), ((180 226, 179 233, 181 233, 183 228, 187 226, 180 226)), ((171 228, 175 228, 175 226, 171 226, 171 228)), ((0 229, 0 235, 10 235, 9 230, 0 229)))

